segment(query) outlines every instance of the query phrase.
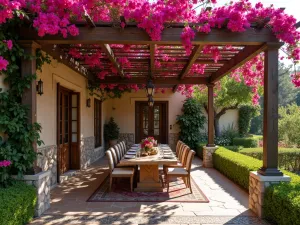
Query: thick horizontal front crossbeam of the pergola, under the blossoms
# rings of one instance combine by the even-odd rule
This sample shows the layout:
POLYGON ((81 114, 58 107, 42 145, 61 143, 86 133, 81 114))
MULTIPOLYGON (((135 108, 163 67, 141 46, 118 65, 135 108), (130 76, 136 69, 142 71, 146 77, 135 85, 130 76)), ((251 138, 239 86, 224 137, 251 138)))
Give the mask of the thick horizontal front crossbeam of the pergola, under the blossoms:
MULTIPOLYGON (((21 27, 20 40, 36 40, 41 44, 164 44, 182 45, 182 27, 165 28, 161 40, 152 41, 143 29, 136 26, 120 30, 110 26, 79 27, 79 35, 63 38, 61 35, 38 36, 36 30, 21 27)), ((278 42, 278 39, 268 28, 257 30, 249 28, 245 32, 230 32, 226 29, 212 29, 209 34, 197 33, 192 40, 194 45, 261 45, 266 42, 278 42)))

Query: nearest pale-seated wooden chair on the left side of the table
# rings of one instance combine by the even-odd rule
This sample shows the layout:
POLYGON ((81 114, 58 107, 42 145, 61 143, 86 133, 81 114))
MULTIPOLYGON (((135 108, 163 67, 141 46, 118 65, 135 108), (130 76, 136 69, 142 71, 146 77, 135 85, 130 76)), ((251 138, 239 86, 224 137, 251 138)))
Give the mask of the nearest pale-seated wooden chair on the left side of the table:
POLYGON ((111 191, 113 178, 128 177, 130 178, 130 190, 133 190, 133 178, 134 178, 134 168, 124 167, 115 168, 113 157, 110 150, 106 151, 108 157, 109 169, 110 169, 110 181, 109 181, 109 191, 111 191))

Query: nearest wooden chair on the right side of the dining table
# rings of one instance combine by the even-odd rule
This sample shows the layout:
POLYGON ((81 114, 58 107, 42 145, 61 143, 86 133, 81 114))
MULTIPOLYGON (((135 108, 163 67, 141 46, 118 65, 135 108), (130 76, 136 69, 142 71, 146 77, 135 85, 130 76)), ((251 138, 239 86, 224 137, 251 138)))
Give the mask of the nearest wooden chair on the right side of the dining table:
POLYGON ((193 150, 189 151, 189 154, 187 156, 186 160, 186 167, 185 168, 168 168, 166 172, 166 182, 167 182, 167 191, 169 192, 169 185, 170 185, 170 178, 171 177, 182 177, 185 180, 185 184, 187 188, 190 189, 191 193, 192 186, 191 186, 191 166, 192 161, 194 158, 195 152, 193 150))

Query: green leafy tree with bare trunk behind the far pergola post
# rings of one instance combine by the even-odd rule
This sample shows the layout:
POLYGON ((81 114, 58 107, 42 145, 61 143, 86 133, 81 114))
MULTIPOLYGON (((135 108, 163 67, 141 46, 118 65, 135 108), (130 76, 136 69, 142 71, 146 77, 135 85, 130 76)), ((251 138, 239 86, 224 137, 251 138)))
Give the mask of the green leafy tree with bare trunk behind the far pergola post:
MULTIPOLYGON (((238 109, 240 105, 252 104, 253 93, 249 86, 244 82, 237 82, 235 79, 228 76, 220 81, 220 88, 215 87, 214 93, 214 127, 216 137, 221 136, 219 121, 222 115, 227 110, 238 109)), ((206 112, 207 107, 207 89, 194 92, 194 97, 202 104, 206 112)))

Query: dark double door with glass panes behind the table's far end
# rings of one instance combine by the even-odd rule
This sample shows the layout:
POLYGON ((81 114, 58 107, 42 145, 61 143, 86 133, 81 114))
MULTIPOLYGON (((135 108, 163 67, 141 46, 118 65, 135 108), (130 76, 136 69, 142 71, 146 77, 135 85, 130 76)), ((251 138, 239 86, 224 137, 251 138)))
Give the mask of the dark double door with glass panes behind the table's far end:
POLYGON ((155 102, 149 107, 147 102, 136 102, 136 143, 152 136, 158 143, 168 143, 168 103, 155 102))

